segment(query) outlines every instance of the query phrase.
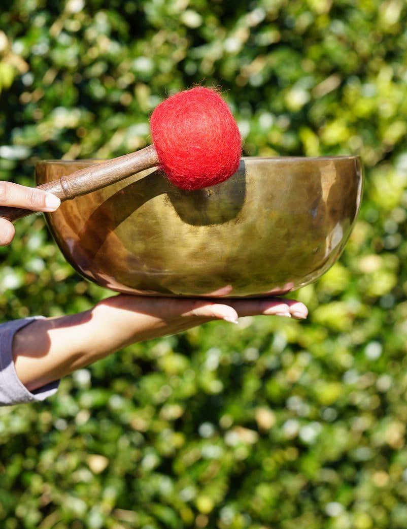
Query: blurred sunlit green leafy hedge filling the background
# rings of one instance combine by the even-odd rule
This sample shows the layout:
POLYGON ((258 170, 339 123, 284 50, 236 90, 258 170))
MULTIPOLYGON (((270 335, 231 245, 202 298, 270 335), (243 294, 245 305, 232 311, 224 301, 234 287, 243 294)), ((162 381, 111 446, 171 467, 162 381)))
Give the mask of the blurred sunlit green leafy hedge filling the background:
MULTIPOLYGON (((298 293, 308 322, 211 323, 2 408, 2 528, 407 527, 406 21, 403 0, 2 2, 3 179, 141 148, 153 107, 196 83, 225 90, 248 155, 366 167, 343 257, 298 293)), ((3 320, 108 295, 41 217, 16 228, 3 320)))

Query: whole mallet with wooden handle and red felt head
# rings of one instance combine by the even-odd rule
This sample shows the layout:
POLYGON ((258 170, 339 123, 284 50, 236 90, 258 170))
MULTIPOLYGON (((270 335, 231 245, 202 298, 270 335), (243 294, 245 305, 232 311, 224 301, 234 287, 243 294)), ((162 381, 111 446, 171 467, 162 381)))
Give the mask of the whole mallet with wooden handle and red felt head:
MULTIPOLYGON (((196 87, 158 105, 150 117, 153 145, 72 172, 38 186, 61 199, 86 195, 150 167, 162 169, 182 189, 218 184, 239 166, 242 139, 229 107, 210 88, 196 87)), ((29 209, 0 207, 0 217, 15 221, 29 209)))

